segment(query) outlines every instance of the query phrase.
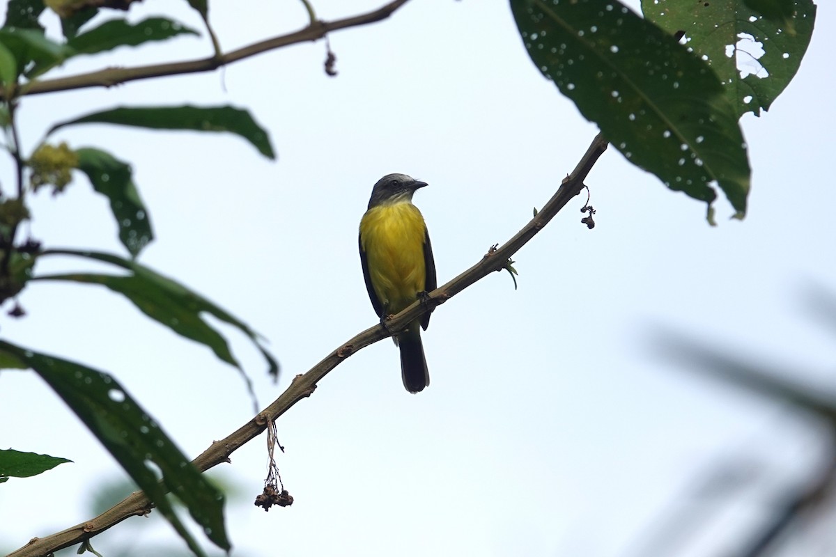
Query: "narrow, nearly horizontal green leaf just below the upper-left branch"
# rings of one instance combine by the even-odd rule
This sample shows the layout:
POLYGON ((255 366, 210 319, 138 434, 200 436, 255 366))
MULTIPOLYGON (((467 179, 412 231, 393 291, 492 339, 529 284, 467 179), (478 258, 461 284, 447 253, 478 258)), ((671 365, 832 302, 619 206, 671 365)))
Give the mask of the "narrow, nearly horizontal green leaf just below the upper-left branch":
POLYGON ((247 139, 259 153, 269 159, 276 158, 267 131, 252 119, 247 110, 232 106, 120 107, 60 122, 49 133, 71 124, 120 124, 150 129, 229 132, 247 139))

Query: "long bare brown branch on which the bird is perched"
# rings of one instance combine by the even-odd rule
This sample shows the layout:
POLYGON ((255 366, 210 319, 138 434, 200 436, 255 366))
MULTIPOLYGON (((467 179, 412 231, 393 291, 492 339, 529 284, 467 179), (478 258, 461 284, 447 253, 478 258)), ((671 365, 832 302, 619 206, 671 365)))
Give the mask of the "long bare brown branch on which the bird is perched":
MULTIPOLYGON (((493 271, 501 271, 507 265, 507 261, 512 255, 519 251, 521 247, 525 246, 534 235, 543 229, 543 226, 548 224, 549 220, 552 220, 554 215, 558 214, 559 210, 563 209, 569 200, 584 189, 584 179, 606 148, 606 140, 602 134, 598 134, 593 139, 592 144, 589 145, 589 149, 587 149, 578 165, 575 166, 572 174, 563 179, 563 183, 557 192, 543 206, 543 209, 532 220, 529 220, 528 224, 523 226, 523 230, 517 232, 511 240, 499 248, 492 248, 485 256, 482 256, 482 259, 476 265, 467 269, 461 275, 456 276, 456 278, 447 282, 445 285, 431 291, 426 305, 416 301, 404 311, 393 316, 390 321, 386 322, 388 330, 380 327, 380 325, 375 325, 375 327, 366 329, 364 332, 349 339, 348 342, 345 342, 342 346, 334 350, 334 352, 331 352, 322 362, 312 367, 307 373, 294 377, 287 390, 267 408, 264 408, 261 413, 258 413, 255 418, 252 418, 241 428, 238 428, 237 431, 228 435, 227 438, 212 443, 209 448, 206 448, 200 456, 191 462, 201 471, 206 471, 220 463, 229 462, 229 456, 237 448, 242 447, 245 443, 256 438, 257 435, 267 428, 268 423, 287 412, 294 404, 305 397, 309 397, 314 392, 319 380, 325 377, 334 367, 337 367, 339 363, 343 362, 345 358, 351 356, 361 348, 402 331, 406 327, 409 327, 410 323, 414 322, 419 316, 427 311, 432 311, 436 306, 449 300, 452 296, 456 296, 456 294, 463 291, 466 287, 471 286, 493 271)), ((7 557, 43 557, 43 555, 51 554, 58 549, 84 542, 94 535, 100 534, 104 530, 119 524, 130 516, 148 514, 152 507, 153 504, 145 497, 144 493, 141 491, 135 492, 120 501, 120 503, 115 504, 112 508, 104 511, 104 513, 99 514, 96 518, 90 519, 82 524, 76 524, 71 528, 62 530, 57 534, 49 535, 46 538, 34 538, 22 548, 8 554, 7 557)))

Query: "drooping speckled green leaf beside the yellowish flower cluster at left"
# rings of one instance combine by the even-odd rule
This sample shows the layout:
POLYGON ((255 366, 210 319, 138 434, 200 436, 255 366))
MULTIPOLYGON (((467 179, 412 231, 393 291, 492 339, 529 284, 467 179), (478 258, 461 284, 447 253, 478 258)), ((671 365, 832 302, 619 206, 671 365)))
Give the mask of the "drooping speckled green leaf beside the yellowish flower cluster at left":
POLYGON ((130 165, 99 149, 84 147, 75 152, 79 155, 79 170, 87 175, 94 190, 110 200, 122 244, 130 255, 139 255, 154 239, 154 233, 130 165))

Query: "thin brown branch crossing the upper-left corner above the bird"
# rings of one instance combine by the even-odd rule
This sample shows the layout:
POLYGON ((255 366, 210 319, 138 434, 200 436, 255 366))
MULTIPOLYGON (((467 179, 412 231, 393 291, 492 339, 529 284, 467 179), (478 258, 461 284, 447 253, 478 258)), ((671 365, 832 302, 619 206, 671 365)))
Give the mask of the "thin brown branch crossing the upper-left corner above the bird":
MULTIPOLYGON (((316 41, 324 38, 331 31, 379 22, 388 18, 392 13, 395 13, 395 10, 407 3, 407 1, 393 0, 376 10, 361 13, 350 18, 337 19, 331 22, 313 21, 307 27, 294 31, 293 33, 268 38, 258 43, 249 44, 246 47, 237 48, 230 53, 217 54, 209 58, 201 58, 187 62, 152 64, 150 66, 139 66, 136 68, 105 68, 95 72, 71 75, 66 78, 33 81, 22 85, 17 91, 17 96, 54 93, 55 91, 84 89, 87 87, 111 87, 138 79, 159 78, 166 75, 181 75, 183 73, 211 72, 221 66, 226 66, 229 63, 237 62, 244 58, 250 58, 256 54, 287 47, 291 44, 316 41)), ((0 89, 0 98, 5 99, 5 97, 5 90, 0 89)))

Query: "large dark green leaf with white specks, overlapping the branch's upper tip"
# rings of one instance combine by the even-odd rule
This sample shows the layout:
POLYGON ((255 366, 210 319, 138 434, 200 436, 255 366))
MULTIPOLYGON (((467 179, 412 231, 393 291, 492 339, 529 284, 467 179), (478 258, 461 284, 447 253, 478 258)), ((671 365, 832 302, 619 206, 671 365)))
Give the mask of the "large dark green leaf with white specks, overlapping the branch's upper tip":
POLYGON ((616 0, 511 0, 535 65, 633 164, 671 190, 746 212, 737 114, 711 68, 616 0))

